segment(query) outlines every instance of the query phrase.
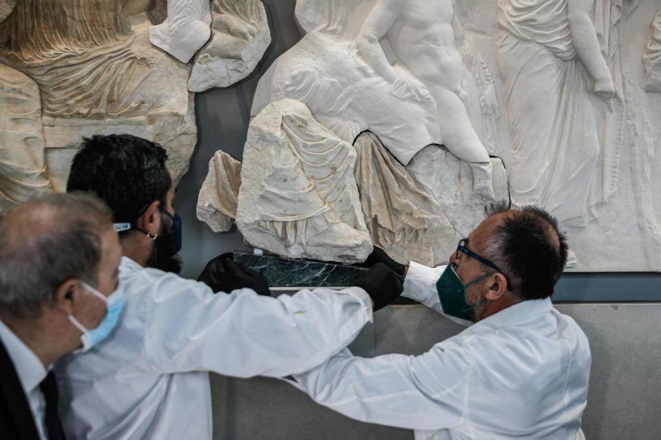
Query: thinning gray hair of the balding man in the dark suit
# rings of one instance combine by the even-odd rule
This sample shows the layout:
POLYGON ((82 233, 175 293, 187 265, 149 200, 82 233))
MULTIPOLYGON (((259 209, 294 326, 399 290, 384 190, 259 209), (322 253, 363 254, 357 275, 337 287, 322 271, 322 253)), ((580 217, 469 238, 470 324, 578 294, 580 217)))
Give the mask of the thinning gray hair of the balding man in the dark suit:
POLYGON ((0 311, 37 317, 63 282, 96 286, 109 228, 112 211, 88 193, 50 194, 12 209, 0 222, 0 311))

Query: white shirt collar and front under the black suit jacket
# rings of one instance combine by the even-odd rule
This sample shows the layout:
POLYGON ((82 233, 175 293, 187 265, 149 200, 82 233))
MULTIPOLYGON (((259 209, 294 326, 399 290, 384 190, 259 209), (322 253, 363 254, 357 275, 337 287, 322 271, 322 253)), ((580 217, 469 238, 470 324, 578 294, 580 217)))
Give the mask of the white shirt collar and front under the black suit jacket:
POLYGON ((2 339, 7 353, 12 359, 14 370, 19 376, 25 397, 28 398, 32 419, 34 419, 36 430, 39 432, 39 438, 48 440, 48 431, 45 427, 46 400, 43 397, 41 388, 39 388, 48 371, 44 368, 39 357, 36 357, 34 352, 17 335, 14 335, 14 332, 1 320, 0 339, 2 339))

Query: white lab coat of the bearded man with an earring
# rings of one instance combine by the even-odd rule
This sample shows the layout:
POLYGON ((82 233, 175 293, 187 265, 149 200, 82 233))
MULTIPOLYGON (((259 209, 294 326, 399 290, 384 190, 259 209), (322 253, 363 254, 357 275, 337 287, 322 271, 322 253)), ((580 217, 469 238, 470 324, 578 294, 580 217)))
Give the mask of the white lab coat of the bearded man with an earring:
POLYGON ((206 284, 123 258, 125 307, 114 332, 56 366, 70 439, 211 439, 209 374, 302 373, 372 320, 357 287, 277 299, 206 284))

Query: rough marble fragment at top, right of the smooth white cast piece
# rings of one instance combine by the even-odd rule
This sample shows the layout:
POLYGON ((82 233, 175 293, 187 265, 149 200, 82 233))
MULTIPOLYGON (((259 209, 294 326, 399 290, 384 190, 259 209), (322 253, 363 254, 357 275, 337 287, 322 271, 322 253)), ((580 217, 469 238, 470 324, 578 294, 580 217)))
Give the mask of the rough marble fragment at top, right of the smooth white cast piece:
POLYGON ((196 54, 188 90, 228 87, 251 74, 271 44, 260 0, 213 0, 211 40, 196 54))

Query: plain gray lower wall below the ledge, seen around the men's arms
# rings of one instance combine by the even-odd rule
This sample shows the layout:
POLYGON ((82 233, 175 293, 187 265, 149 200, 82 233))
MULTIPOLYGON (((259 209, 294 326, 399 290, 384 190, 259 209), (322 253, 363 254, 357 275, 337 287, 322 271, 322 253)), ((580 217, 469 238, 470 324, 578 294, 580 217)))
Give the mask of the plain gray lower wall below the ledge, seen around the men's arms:
MULTIPOLYGON (((590 341, 583 430, 588 440, 661 440, 661 304, 563 304, 590 341)), ((423 306, 390 306, 353 344, 356 355, 424 353, 461 326, 423 306)), ((359 423, 276 379, 211 375, 216 440, 412 440, 411 431, 359 423)))

